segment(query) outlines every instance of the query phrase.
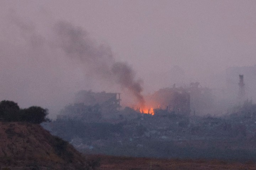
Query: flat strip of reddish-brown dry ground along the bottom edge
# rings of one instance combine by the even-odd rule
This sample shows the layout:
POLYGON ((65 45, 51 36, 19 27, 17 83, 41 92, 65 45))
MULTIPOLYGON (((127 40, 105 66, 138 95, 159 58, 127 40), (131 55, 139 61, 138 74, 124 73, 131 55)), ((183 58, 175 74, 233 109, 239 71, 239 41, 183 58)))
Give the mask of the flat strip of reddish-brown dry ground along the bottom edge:
POLYGON ((106 155, 88 155, 92 159, 100 159, 101 170, 252 170, 256 164, 252 162, 236 163, 218 160, 180 160, 131 158, 106 155))

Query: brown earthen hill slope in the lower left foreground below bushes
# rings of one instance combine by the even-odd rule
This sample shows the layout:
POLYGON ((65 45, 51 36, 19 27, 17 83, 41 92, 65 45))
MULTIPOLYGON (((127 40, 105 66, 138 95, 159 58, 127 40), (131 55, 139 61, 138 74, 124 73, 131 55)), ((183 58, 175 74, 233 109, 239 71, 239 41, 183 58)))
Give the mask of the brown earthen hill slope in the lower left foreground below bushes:
MULTIPOLYGON (((89 169, 73 146, 40 125, 0 122, 0 166, 6 169, 89 169)), ((92 167, 91 167, 92 168, 92 167)))

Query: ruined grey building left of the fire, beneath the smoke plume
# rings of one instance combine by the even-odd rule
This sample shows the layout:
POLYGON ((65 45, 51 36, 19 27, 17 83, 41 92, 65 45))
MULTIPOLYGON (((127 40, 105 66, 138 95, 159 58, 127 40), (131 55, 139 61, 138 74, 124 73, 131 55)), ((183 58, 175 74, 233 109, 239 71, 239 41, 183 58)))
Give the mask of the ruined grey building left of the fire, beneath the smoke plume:
POLYGON ((57 119, 76 119, 97 122, 107 113, 116 113, 120 106, 120 93, 79 91, 74 104, 65 106, 57 119))

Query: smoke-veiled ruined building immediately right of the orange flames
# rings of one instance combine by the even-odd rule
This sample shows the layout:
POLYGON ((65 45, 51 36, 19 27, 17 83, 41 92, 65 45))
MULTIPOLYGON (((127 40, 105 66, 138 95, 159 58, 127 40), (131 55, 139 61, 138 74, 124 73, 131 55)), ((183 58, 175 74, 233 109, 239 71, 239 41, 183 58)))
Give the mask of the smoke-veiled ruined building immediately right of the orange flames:
POLYGON ((156 115, 159 113, 157 110, 161 109, 188 116, 210 113, 213 109, 214 97, 211 89, 202 87, 196 82, 191 83, 189 87, 174 85, 171 88, 160 89, 150 96, 150 100, 156 115))

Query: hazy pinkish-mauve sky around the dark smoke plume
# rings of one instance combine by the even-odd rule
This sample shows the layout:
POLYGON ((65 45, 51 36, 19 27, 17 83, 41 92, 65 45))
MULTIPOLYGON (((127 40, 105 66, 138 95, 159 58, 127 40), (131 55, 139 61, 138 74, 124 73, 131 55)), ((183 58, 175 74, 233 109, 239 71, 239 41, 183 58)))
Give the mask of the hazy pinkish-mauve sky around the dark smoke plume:
POLYGON ((83 30, 95 48, 105 44, 114 61, 126 62, 135 80, 143 80, 144 94, 177 81, 210 87, 212 75, 256 64, 255 0, 0 0, 0 4, 0 99, 24 107, 48 107, 54 101, 61 105, 69 101, 66 96, 82 89, 121 90, 112 83, 102 85, 83 63, 54 47, 52 29, 60 21, 83 30))

